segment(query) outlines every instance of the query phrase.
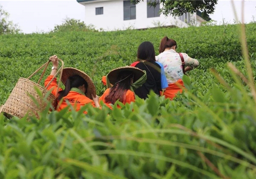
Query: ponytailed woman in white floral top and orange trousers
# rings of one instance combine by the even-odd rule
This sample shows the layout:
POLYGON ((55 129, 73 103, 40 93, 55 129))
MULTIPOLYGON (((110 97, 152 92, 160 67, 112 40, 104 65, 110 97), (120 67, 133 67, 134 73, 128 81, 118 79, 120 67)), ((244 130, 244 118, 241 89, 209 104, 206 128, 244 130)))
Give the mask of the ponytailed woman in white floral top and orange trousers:
POLYGON ((178 92, 182 92, 184 84, 182 77, 184 73, 196 68, 199 65, 198 60, 190 58, 186 53, 177 53, 177 43, 173 39, 164 37, 159 47, 159 55, 156 60, 163 64, 168 87, 164 92, 166 98, 171 100, 178 92), (187 66, 185 68, 185 65, 187 66))

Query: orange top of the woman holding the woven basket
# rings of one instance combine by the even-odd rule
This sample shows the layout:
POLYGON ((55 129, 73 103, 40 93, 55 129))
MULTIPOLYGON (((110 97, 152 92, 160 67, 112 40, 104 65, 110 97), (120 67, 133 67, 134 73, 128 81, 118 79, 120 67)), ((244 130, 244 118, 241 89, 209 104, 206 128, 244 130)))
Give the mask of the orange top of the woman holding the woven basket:
MULTIPOLYGON (((52 80, 53 76, 49 75, 46 80, 44 81, 44 87, 47 86, 47 84, 49 84, 49 82, 52 80)), ((53 95, 57 94, 57 79, 55 78, 52 83, 49 85, 49 87, 47 88, 47 90, 52 90, 51 93, 53 95)), ((62 89, 60 88, 59 91, 62 91, 62 89)), ((68 106, 67 102, 68 101, 70 103, 70 105, 72 105, 72 107, 76 110, 79 111, 81 109, 82 106, 84 106, 85 104, 91 104, 93 107, 95 107, 95 104, 93 102, 93 100, 91 100, 90 98, 87 98, 87 96, 85 96, 84 94, 82 94, 82 92, 79 92, 80 90, 70 90, 70 92, 67 94, 67 96, 65 96, 63 98, 63 101, 61 104, 58 104, 58 111, 63 110, 64 108, 66 108, 68 106)), ((59 101, 58 101, 59 103, 59 101)), ((86 111, 84 111, 84 114, 87 114, 86 111)))

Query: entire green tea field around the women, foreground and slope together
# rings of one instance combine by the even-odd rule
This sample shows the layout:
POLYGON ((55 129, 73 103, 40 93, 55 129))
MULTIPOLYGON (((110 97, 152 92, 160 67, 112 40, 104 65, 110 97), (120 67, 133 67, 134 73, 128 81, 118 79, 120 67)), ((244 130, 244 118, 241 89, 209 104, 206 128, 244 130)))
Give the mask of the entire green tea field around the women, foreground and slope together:
MULTIPOLYGON (((255 30, 246 25, 254 75, 255 30)), ((253 91, 226 64, 247 75, 234 25, 0 36, 0 104, 20 76, 53 54, 87 72, 101 95, 102 75, 135 61, 143 41, 157 52, 165 35, 200 61, 184 78, 187 93, 175 101, 152 94, 122 109, 85 106, 86 116, 44 111, 30 122, 0 116, 0 178, 256 178, 253 91)))

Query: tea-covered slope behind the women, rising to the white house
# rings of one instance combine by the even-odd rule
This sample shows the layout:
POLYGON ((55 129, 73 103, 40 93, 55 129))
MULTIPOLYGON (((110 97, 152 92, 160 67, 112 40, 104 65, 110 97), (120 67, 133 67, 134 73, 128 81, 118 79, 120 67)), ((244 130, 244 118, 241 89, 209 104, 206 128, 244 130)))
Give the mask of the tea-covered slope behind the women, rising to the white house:
MULTIPOLYGON (((256 50, 253 35, 256 24, 246 25, 246 30, 249 52, 252 53, 256 50)), ((201 81, 212 80, 207 72, 209 67, 222 67, 223 62, 240 60, 241 47, 237 34, 236 26, 230 25, 143 31, 2 35, 0 104, 8 98, 19 77, 26 78, 31 75, 53 54, 63 59, 66 67, 76 67, 88 73, 96 84, 98 95, 101 95, 105 90, 101 84, 102 75, 106 75, 113 68, 135 61, 137 47, 143 41, 151 41, 158 54, 160 40, 165 35, 177 41, 179 52, 186 52, 200 61, 201 66, 190 73, 192 82, 197 87, 204 83, 201 81)), ((205 88, 202 92, 204 90, 205 88)))

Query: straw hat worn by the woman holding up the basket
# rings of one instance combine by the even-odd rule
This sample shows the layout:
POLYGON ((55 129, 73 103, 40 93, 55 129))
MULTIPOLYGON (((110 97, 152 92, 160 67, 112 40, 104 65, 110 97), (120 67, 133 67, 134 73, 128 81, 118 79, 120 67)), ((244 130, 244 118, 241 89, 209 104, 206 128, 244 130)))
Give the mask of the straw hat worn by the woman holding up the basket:
POLYGON ((64 68, 62 72, 61 81, 63 84, 66 84, 67 78, 73 75, 79 75, 87 82, 88 87, 86 90, 86 96, 90 99, 92 99, 92 95, 96 96, 96 88, 93 84, 93 81, 91 80, 90 76, 87 75, 85 72, 82 72, 79 69, 76 68, 64 68))

